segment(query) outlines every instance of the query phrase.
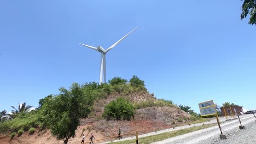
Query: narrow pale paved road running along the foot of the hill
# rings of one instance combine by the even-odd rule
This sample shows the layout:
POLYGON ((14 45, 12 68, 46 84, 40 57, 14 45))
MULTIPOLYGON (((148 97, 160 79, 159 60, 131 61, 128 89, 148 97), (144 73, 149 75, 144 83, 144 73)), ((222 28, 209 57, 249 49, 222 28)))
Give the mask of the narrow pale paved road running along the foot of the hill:
MULTIPOLYGON (((251 115, 242 115, 242 116, 240 116, 240 118, 241 118, 241 121, 243 121, 243 119, 253 119, 254 118, 254 116, 251 114, 251 115)), ((229 121, 226 121, 226 118, 225 117, 220 117, 219 118, 219 121, 220 121, 220 123, 221 123, 221 125, 228 125, 229 123, 230 124, 235 124, 236 125, 236 123, 238 123, 238 119, 234 119, 234 118, 232 118, 232 117, 228 117, 228 120, 229 121)), ((255 118, 254 118, 254 120, 255 120, 255 118)), ((205 122, 205 124, 212 124, 212 123, 216 123, 216 125, 217 125, 217 120, 216 119, 212 119, 210 122, 205 122)), ((190 128, 190 127, 195 127, 195 126, 200 126, 200 125, 202 125, 202 123, 196 123, 196 124, 191 124, 191 125, 183 125, 183 126, 181 126, 181 127, 176 127, 175 129, 173 129, 173 128, 170 128, 170 129, 164 129, 164 130, 160 130, 160 131, 157 131, 156 133, 155 132, 152 132, 152 133, 148 133, 148 134, 143 134, 143 135, 139 135, 138 137, 146 137, 146 136, 152 136, 152 135, 158 135, 158 134, 162 134, 162 133, 167 133, 167 132, 170 132, 170 131, 174 131, 174 130, 180 130, 180 129, 186 129, 186 128, 190 128)), ((236 125, 237 126, 237 125, 236 125)), ((217 128, 218 130, 215 130, 214 129, 214 131, 218 131, 218 134, 217 135, 219 135, 219 133, 220 133, 220 131, 219 131, 219 128, 218 128, 218 126, 216 126, 216 127, 213 127, 213 128, 217 128)), ((208 128, 208 129, 211 129, 211 128, 208 128)), ((176 136, 177 137, 177 136, 176 136)), ((114 140, 114 141, 112 141, 112 142, 117 142, 117 141, 125 141, 125 140, 134 140, 135 139, 135 137, 126 137, 126 138, 124 138, 124 139, 121 139, 121 140, 114 140)), ((172 138, 171 138, 172 139, 172 138)), ((100 144, 106 144, 106 143, 110 143, 110 142, 103 142, 103 143, 100 143, 100 144)), ((156 142, 156 143, 159 143, 160 144, 160 142, 156 142)), ((167 142, 168 143, 168 142, 167 142)))

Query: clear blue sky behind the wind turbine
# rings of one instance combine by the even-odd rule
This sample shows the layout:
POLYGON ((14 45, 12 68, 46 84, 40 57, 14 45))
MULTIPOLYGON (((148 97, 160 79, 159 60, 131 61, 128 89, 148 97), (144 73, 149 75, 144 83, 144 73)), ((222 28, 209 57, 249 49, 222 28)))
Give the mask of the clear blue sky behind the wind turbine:
POLYGON ((191 106, 230 101, 255 110, 256 26, 240 21, 242 2, 2 1, 0 111, 38 106, 73 82, 98 82, 100 53, 107 80, 145 81, 156 98, 191 106))

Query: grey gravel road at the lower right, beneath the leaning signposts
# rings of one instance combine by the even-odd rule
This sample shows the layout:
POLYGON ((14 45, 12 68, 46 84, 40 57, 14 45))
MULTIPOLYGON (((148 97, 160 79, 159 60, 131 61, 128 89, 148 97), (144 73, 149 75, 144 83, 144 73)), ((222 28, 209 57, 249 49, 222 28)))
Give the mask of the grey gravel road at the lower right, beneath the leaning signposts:
POLYGON ((255 117, 250 115, 241 116, 241 123, 246 127, 245 130, 240 130, 238 126, 240 123, 238 119, 230 120, 224 122, 221 125, 223 129, 223 134, 226 135, 226 140, 220 140, 220 130, 219 127, 211 127, 207 129, 197 130, 192 133, 184 134, 181 136, 172 137, 163 141, 158 141, 153 144, 169 144, 169 143, 256 143, 256 122, 255 117))

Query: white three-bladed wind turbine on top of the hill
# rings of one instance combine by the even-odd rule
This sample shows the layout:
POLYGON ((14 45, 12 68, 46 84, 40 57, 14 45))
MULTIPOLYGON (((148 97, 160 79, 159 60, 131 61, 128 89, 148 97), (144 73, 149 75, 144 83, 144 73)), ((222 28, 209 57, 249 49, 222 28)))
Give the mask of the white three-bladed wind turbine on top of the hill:
MULTIPOLYGON (((138 27, 136 27, 138 28, 138 27)), ((136 29, 135 28, 135 29, 136 29)), ((130 33, 132 33, 133 31, 135 31, 135 29, 133 29, 130 33)), ((114 43, 112 46, 108 47, 107 50, 104 50, 103 47, 101 46, 90 46, 90 45, 85 45, 85 44, 81 44, 83 46, 89 47, 92 50, 98 51, 101 53, 101 67, 100 67, 100 84, 101 83, 106 83, 106 54, 109 50, 113 49, 118 43, 120 43, 120 41, 122 41, 125 37, 127 37, 130 33, 126 34, 123 38, 119 39, 116 43, 114 43)))

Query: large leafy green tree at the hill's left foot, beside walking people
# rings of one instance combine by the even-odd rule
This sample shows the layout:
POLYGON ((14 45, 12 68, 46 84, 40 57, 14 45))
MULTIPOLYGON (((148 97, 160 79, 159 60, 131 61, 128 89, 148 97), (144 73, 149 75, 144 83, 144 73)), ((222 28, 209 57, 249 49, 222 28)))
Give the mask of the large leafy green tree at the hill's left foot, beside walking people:
POLYGON ((73 83, 69 90, 66 88, 59 90, 59 95, 45 101, 40 109, 39 118, 51 129, 51 134, 57 140, 64 140, 64 143, 67 143, 70 137, 75 136, 79 118, 86 117, 90 113, 94 99, 92 96, 88 98, 85 92, 89 92, 89 89, 84 91, 78 83, 73 83))

